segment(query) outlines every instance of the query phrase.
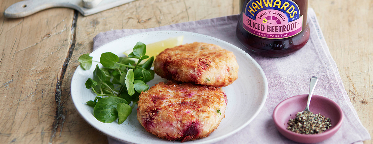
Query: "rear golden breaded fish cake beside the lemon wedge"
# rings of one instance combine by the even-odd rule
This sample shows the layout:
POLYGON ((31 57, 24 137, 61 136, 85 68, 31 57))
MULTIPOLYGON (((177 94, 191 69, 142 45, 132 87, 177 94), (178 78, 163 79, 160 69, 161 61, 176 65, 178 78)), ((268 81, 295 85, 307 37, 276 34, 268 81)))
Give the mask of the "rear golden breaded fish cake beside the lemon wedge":
POLYGON ((215 87, 237 79, 238 63, 233 52, 208 43, 190 43, 161 52, 154 72, 162 78, 215 87))

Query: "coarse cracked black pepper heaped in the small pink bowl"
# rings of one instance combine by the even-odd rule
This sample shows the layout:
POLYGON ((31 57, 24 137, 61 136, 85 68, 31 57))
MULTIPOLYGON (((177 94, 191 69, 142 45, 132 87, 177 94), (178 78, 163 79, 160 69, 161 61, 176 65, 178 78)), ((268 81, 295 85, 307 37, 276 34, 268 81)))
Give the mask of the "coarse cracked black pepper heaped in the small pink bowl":
POLYGON ((298 112, 296 118, 289 119, 286 129, 299 134, 319 134, 332 127, 330 118, 313 112, 298 112))

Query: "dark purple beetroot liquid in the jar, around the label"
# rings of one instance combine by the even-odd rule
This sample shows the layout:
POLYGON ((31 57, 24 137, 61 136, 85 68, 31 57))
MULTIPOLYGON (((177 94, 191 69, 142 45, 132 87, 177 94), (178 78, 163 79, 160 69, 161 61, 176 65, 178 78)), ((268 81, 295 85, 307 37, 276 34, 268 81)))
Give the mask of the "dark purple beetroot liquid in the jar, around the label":
MULTIPOLYGON (((240 7, 244 11, 249 0, 241 0, 240 7)), ((275 1, 275 0, 273 0, 275 1)), ((238 20, 236 35, 242 45, 251 52, 265 57, 277 58, 288 56, 302 48, 310 38, 310 28, 307 24, 308 0, 292 0, 297 3, 300 15, 303 15, 303 30, 295 36, 284 39, 266 39, 253 35, 242 27, 242 12, 238 20)))

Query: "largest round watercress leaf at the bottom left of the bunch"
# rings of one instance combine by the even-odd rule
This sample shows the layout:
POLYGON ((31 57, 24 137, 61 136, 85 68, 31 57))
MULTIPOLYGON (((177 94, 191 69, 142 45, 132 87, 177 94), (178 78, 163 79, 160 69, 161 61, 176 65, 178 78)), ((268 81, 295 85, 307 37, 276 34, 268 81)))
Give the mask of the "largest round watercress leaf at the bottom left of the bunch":
POLYGON ((101 122, 110 123, 118 118, 117 104, 128 102, 117 96, 102 98, 93 108, 93 116, 101 122))

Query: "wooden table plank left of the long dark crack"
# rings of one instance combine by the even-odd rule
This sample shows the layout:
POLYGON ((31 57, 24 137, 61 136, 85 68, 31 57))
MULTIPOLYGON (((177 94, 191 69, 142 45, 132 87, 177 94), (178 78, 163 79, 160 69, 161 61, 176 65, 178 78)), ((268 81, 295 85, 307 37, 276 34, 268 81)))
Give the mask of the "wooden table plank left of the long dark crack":
MULTIPOLYGON (((16 1, 1 1, 1 12, 16 1)), ((51 141, 57 75, 70 47, 73 10, 22 19, 0 15, 0 143, 51 141)))

